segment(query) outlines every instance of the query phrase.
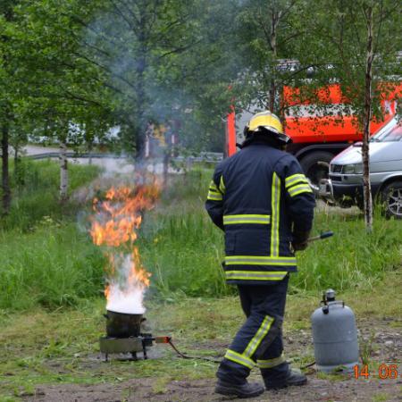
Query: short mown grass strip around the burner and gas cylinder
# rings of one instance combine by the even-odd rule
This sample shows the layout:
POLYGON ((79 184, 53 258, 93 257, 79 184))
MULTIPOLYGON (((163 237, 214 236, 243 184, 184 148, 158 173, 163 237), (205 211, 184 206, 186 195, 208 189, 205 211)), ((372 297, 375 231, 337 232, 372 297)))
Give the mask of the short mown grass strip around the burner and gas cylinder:
MULTIPOLYGON (((384 316, 400 316, 401 279, 393 272, 370 297, 351 289, 339 295, 339 299, 343 298, 354 309, 358 325, 368 319, 378 324, 384 316), (389 294, 395 295, 394 303, 389 303, 389 294)), ((172 336, 181 351, 194 356, 222 356, 244 321, 239 297, 180 297, 172 302, 158 301, 148 293, 146 305, 150 331, 154 335, 172 336)), ((300 335, 300 329, 310 328, 310 314, 318 305, 319 295, 289 295, 285 337, 290 336, 296 342, 307 337, 300 335)), ((180 359, 167 345, 152 348, 158 353, 156 359, 101 363, 98 338, 105 334, 104 313, 105 300, 99 297, 80 300, 77 307, 60 307, 53 312, 38 307, 25 313, 0 314, 0 400, 2 397, 20 400, 17 398, 39 384, 108 383, 113 387, 133 378, 152 378, 154 391, 163 392, 170 381, 202 378, 214 381, 216 364, 180 359)), ((314 361, 311 344, 302 350, 292 345, 287 342, 286 356, 296 367, 314 361)))

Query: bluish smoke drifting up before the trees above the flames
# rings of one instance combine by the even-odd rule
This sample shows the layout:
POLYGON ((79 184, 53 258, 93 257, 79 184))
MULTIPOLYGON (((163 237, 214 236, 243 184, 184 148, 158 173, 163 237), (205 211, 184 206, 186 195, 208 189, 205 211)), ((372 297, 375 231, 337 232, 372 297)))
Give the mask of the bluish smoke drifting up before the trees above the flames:
POLYGON ((102 66, 124 149, 132 153, 149 123, 174 121, 181 146, 222 151, 221 119, 235 96, 228 88, 243 69, 232 32, 241 6, 239 0, 106 1, 95 13, 82 52, 102 66))

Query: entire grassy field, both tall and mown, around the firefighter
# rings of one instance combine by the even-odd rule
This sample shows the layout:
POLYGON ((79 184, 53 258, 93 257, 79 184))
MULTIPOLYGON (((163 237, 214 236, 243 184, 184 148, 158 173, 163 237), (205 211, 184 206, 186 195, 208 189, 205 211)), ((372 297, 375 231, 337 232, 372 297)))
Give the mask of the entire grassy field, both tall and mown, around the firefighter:
MULTIPOLYGON (((161 358, 148 362, 101 363, 105 259, 80 229, 85 225, 77 224, 77 214, 88 205, 57 203, 55 163, 29 169, 35 184, 15 188, 12 214, 0 231, 0 401, 29 398, 38 384, 116 385, 133 376, 151 378, 156 398, 170 381, 213 378, 214 363, 177 359, 167 347, 155 348, 161 358)), ((96 174, 92 167, 71 166, 71 191, 88 187, 96 174)), ((153 273, 146 295, 150 330, 172 335, 180 348, 198 356, 222 356, 243 320, 235 289, 222 279, 222 232, 203 209, 211 174, 195 170, 172 177, 138 240, 153 273)), ((289 348, 292 362, 314 358, 309 315, 327 287, 353 306, 367 333, 382 331, 383 324, 372 321, 384 319, 400 331, 401 226, 377 214, 373 234, 366 235, 356 211, 317 210, 314 233, 333 230, 336 236, 301 253, 299 273, 292 275, 285 324, 285 334, 297 339, 291 342, 297 347, 289 348)), ((380 358, 385 357, 370 364, 380 358)), ((129 400, 121 392, 121 400, 129 400)))

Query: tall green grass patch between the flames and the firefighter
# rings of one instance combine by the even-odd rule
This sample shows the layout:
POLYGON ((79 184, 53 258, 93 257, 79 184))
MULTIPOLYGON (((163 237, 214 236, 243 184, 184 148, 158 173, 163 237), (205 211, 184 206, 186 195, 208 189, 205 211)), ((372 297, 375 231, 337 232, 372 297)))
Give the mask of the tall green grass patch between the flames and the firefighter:
POLYGON ((222 233, 200 211, 186 215, 156 215, 144 240, 144 264, 154 273, 153 284, 169 296, 219 297, 229 294, 222 269, 222 233))

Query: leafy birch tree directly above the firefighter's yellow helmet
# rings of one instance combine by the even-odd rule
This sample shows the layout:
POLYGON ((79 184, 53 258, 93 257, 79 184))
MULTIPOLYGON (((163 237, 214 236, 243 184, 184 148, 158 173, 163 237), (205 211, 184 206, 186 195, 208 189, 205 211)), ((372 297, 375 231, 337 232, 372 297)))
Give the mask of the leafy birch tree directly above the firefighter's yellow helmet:
POLYGON ((300 66, 294 43, 308 27, 300 13, 314 2, 300 0, 247 0, 237 17, 239 54, 247 59, 239 80, 239 100, 245 107, 258 106, 283 119, 286 105, 281 102, 282 88, 306 78, 308 66, 300 66))

